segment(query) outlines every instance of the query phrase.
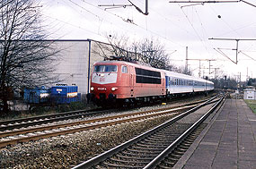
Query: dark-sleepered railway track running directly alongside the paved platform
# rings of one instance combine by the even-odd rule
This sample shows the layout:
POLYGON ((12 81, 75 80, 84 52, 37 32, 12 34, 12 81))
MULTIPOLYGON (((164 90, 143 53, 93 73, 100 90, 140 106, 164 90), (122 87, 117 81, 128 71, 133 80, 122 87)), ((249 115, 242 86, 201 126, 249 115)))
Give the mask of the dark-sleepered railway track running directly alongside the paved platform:
POLYGON ((75 166, 74 169, 90 167, 170 168, 175 164, 179 156, 186 151, 186 148, 189 147, 189 143, 192 139, 188 138, 188 136, 195 137, 195 134, 191 134, 191 132, 222 103, 223 99, 224 97, 221 97, 216 104, 212 103, 208 105, 207 108, 206 105, 210 100, 199 106, 195 106, 189 111, 177 115, 168 122, 75 166), (205 109, 203 110, 203 114, 190 114, 199 108, 200 110, 201 108, 205 109), (197 118, 196 122, 182 123, 184 118, 190 119, 193 115, 197 118), (175 148, 176 151, 173 151, 175 148), (166 157, 169 161, 166 161, 166 157), (165 159, 165 161, 163 161, 163 159, 165 159))

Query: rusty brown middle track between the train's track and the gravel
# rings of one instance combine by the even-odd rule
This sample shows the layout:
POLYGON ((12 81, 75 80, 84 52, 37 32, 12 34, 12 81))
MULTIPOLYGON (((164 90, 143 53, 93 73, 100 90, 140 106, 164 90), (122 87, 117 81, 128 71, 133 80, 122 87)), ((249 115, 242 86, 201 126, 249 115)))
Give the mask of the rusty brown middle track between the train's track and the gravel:
MULTIPOLYGON (((201 102, 201 101, 200 101, 201 102)), ((164 114, 172 114, 178 111, 185 111, 191 107, 197 106, 200 102, 184 104, 180 106, 172 106, 160 108, 151 111, 137 112, 132 114, 112 115, 102 118, 94 118, 91 120, 77 121, 73 123, 62 123, 55 125, 44 125, 40 127, 32 127, 13 131, 0 132, 0 147, 13 145, 20 142, 27 142, 30 140, 45 139, 53 136, 64 135, 67 133, 74 133, 77 131, 86 131, 95 128, 105 127, 117 123, 127 123, 141 119, 151 118, 164 114)), ((17 124, 19 125, 19 124, 17 124)))

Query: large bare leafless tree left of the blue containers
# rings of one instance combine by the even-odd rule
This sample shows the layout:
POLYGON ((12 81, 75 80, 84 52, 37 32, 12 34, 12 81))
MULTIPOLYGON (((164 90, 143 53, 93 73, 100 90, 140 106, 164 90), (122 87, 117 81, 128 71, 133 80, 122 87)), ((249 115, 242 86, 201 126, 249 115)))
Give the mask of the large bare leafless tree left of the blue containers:
POLYGON ((35 0, 0 4, 0 109, 8 111, 13 90, 43 85, 50 77, 56 51, 40 25, 40 3, 35 0))

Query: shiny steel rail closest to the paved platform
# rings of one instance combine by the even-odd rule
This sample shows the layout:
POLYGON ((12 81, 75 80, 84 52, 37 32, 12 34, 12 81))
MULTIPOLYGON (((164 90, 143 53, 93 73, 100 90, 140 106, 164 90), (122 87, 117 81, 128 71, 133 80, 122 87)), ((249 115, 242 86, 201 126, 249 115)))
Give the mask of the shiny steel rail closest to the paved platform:
POLYGON ((216 107, 222 103, 224 98, 225 96, 223 96, 213 107, 211 107, 211 109, 208 110, 206 114, 200 117, 199 120, 196 123, 194 123, 187 131, 183 132, 178 139, 173 141, 168 148, 165 148, 161 154, 156 156, 154 160, 152 160, 148 165, 146 165, 144 169, 154 168, 154 166, 158 165, 161 161, 163 161, 163 159, 166 156, 168 156, 168 154, 170 154, 172 150, 176 148, 183 139, 189 136, 192 131, 194 131, 197 127, 199 127, 199 124, 203 123, 207 119, 207 116, 211 114, 216 109, 216 107))

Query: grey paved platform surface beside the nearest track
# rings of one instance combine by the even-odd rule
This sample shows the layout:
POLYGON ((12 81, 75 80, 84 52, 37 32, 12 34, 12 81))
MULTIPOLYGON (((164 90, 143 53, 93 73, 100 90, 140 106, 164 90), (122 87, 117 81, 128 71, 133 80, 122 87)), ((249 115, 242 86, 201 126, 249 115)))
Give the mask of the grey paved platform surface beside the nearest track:
POLYGON ((256 114, 242 99, 225 100, 174 168, 256 169, 256 114))

